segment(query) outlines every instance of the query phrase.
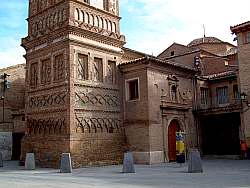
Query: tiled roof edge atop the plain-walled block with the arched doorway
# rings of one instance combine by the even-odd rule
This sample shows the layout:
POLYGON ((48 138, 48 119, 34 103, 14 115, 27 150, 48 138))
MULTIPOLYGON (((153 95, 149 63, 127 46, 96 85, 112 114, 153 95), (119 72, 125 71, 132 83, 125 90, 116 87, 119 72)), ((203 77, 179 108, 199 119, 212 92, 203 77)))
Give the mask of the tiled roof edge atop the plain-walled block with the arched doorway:
POLYGON ((130 64, 135 64, 135 63, 145 63, 147 61, 151 61, 151 62, 159 63, 159 64, 165 64, 165 65, 169 65, 169 66, 173 66, 173 67, 181 68, 181 69, 186 69, 186 70, 190 70, 190 71, 197 71, 195 68, 192 68, 190 66, 183 65, 181 63, 172 62, 172 61, 164 61, 164 60, 158 59, 154 56, 146 56, 146 57, 138 58, 138 59, 135 59, 132 61, 128 61, 128 62, 125 62, 123 64, 120 64, 120 67, 130 65, 130 64))

